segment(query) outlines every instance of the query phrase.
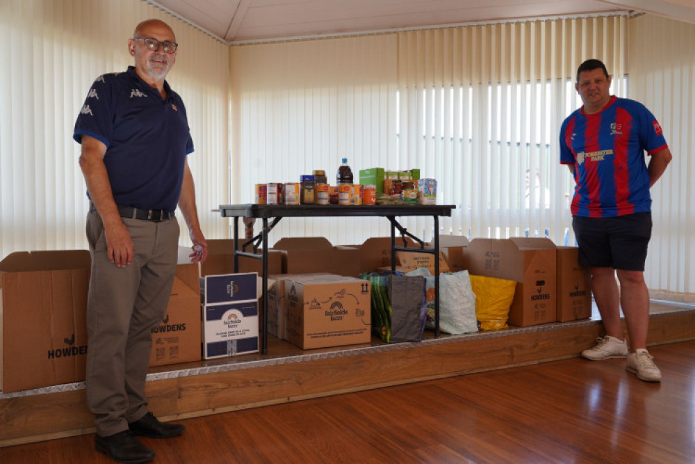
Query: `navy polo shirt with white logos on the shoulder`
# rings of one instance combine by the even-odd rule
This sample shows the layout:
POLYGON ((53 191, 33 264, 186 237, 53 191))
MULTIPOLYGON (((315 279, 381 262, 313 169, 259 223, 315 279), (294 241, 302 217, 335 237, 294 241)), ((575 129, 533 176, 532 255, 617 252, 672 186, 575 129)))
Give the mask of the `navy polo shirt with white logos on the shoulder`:
POLYGON ((116 205, 174 211, 179 202, 193 139, 181 97, 166 81, 164 88, 166 99, 132 66, 104 74, 77 116, 75 141, 88 135, 106 145, 104 164, 116 205))

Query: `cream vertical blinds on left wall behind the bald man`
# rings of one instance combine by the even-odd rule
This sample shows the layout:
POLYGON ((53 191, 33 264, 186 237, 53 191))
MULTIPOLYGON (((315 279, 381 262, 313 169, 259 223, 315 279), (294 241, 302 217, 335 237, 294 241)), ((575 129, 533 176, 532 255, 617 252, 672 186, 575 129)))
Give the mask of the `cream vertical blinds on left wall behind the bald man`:
MULTIPOLYGON (((188 110, 203 230, 227 234, 211 209, 229 202, 229 47, 142 0, 3 0, 0 259, 19 250, 87 248, 74 121, 97 76, 133 64, 127 39, 149 18, 170 24, 180 44, 167 80, 188 110)), ((185 233, 181 243, 190 243, 185 233)))

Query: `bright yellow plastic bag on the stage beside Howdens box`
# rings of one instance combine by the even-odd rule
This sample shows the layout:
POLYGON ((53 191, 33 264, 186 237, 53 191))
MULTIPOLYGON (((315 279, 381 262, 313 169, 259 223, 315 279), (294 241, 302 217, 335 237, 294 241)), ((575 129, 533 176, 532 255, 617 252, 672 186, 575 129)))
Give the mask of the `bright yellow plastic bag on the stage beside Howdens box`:
POLYGON ((480 330, 508 328, 509 307, 514 301, 516 281, 471 275, 475 294, 475 317, 480 330))

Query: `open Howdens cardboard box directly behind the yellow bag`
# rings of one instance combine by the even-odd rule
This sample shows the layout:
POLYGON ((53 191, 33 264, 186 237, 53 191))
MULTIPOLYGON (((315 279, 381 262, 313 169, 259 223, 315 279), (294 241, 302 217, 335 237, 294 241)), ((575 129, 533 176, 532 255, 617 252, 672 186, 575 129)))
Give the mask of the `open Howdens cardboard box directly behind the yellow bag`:
POLYGON ((516 280, 509 324, 534 326, 557 319, 555 243, 549 239, 473 239, 464 248, 473 275, 516 280))

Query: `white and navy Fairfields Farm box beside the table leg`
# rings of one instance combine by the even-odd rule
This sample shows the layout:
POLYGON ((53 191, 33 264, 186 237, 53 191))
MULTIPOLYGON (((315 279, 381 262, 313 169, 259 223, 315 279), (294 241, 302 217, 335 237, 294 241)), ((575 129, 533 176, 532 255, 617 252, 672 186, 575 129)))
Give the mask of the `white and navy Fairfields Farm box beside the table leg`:
POLYGON ((259 280, 255 272, 205 276, 204 359, 259 351, 259 280))

